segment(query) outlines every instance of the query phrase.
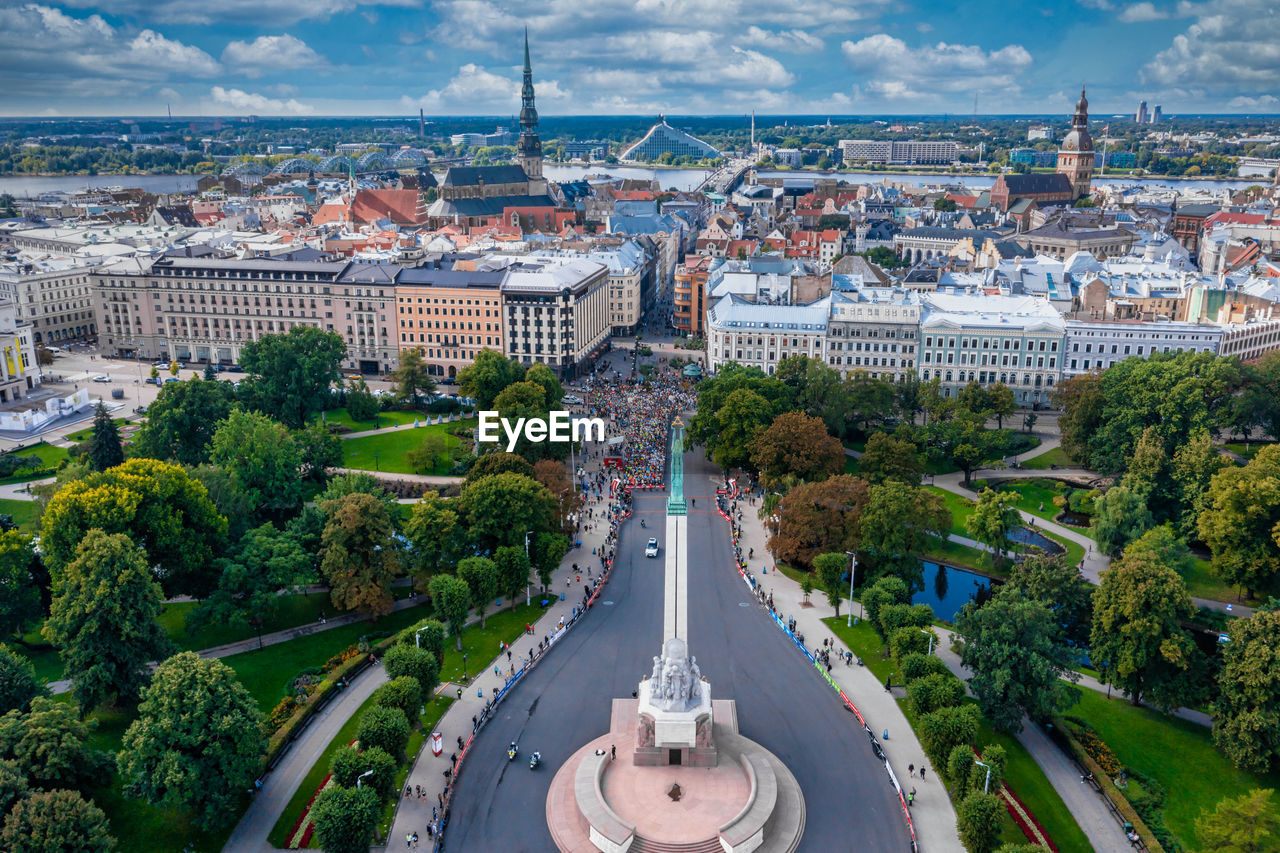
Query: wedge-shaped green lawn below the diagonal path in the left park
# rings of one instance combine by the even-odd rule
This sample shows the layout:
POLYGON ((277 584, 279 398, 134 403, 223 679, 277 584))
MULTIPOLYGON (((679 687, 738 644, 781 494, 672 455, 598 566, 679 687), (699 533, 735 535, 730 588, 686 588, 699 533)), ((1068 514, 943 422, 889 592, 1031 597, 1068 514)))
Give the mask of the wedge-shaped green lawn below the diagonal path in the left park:
MULTIPOLYGON (((422 603, 426 603, 422 598, 422 603)), ((232 667, 241 684, 250 692, 262 713, 284 697, 288 683, 301 670, 324 666, 324 662, 360 640, 374 634, 385 637, 408 628, 428 615, 426 608, 410 607, 383 616, 376 622, 355 622, 332 628, 326 631, 308 634, 285 643, 276 643, 252 652, 241 652, 224 657, 223 663, 232 667)))

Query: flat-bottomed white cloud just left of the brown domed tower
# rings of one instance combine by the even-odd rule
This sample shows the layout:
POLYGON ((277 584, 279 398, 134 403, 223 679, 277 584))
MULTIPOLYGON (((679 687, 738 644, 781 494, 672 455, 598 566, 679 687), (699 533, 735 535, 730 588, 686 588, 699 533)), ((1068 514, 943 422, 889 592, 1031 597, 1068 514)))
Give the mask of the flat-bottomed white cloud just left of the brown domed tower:
POLYGON ((1018 77, 1032 64, 1021 45, 983 50, 977 45, 909 47, 884 33, 841 46, 845 60, 868 76, 868 91, 888 100, 942 100, 937 93, 1018 92, 1018 77))

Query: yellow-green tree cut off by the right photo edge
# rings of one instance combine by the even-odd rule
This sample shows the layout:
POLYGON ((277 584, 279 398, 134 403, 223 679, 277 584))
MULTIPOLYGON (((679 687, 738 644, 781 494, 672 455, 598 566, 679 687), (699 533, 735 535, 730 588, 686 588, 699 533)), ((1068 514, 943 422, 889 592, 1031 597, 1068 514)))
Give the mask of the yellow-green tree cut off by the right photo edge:
POLYGON ((1280 444, 1258 451, 1244 467, 1213 475, 1199 517, 1199 534, 1222 580, 1275 590, 1280 580, 1280 444))

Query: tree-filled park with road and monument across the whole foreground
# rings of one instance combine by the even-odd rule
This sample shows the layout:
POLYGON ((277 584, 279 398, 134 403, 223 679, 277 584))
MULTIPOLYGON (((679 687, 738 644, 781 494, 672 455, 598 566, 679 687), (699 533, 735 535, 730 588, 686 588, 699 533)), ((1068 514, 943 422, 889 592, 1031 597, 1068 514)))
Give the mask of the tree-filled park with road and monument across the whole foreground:
POLYGON ((631 452, 571 459, 474 443, 562 407, 545 368, 344 387, 312 332, 0 456, 8 849, 1280 831, 1275 364, 1134 359, 1052 415, 614 357, 575 409, 631 452))

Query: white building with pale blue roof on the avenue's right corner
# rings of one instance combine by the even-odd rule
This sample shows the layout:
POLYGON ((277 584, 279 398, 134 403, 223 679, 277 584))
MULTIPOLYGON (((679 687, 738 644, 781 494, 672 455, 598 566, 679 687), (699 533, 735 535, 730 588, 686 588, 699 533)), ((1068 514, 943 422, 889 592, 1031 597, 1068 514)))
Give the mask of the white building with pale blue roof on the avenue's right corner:
POLYGON ((808 305, 760 305, 730 293, 707 313, 707 364, 712 373, 730 361, 772 374, 791 355, 826 361, 831 297, 808 305))

